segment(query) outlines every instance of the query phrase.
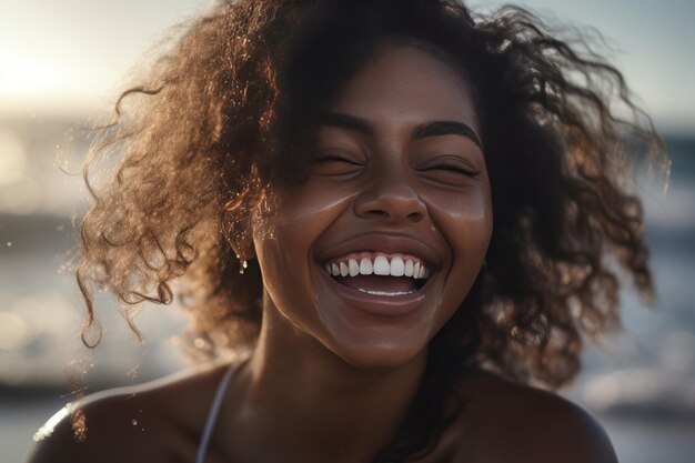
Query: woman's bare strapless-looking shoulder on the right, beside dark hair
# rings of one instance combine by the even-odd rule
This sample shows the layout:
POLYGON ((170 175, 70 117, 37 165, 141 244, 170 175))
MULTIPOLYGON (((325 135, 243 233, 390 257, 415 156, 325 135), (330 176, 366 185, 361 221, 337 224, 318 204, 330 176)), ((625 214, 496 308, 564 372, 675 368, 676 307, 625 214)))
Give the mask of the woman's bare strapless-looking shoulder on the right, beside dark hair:
POLYGON ((455 462, 617 462, 596 419, 552 392, 475 372, 464 401, 455 462))

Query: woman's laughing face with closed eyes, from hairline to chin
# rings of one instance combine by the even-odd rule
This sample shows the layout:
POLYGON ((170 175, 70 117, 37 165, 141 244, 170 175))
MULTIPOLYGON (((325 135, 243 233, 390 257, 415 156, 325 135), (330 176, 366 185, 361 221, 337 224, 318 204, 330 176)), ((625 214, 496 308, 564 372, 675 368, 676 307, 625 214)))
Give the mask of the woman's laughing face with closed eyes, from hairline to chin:
POLYGON ((320 118, 306 180, 254 225, 264 310, 360 368, 424 354, 492 232, 477 139, 459 72, 414 47, 380 49, 320 118))

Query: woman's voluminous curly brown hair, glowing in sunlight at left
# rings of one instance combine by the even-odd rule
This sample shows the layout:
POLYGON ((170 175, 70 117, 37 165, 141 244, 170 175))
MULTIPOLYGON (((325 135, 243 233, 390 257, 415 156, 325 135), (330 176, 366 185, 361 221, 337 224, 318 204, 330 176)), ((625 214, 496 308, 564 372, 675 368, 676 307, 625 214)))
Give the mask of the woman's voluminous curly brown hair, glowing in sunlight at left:
POLYGON ((231 243, 249 211, 301 181, 312 118, 385 40, 424 47, 469 80, 494 223, 486 264, 431 342, 409 417, 377 460, 434 444, 453 419, 442 397, 471 364, 547 387, 576 375, 582 334, 620 324, 621 273, 653 295, 627 168, 663 157, 663 143, 584 36, 560 40, 521 8, 473 14, 454 0, 224 1, 190 24, 121 94, 85 163, 85 343, 98 343, 92 295, 110 289, 135 332, 134 306, 177 293, 205 340, 199 353, 253 345, 262 279, 253 262, 239 274, 231 243), (99 161, 109 165, 94 182, 99 161))

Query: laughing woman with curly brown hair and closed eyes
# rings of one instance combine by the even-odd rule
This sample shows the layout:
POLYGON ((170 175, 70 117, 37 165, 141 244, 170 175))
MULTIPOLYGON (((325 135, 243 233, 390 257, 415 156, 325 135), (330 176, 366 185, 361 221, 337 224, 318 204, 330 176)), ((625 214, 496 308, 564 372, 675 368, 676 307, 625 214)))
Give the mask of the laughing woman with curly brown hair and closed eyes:
POLYGON ((531 386, 616 325, 620 271, 652 293, 622 174, 661 144, 613 97, 639 115, 520 9, 219 4, 95 147, 78 282, 90 345, 93 291, 177 281, 197 352, 248 360, 87 397, 30 461, 614 462, 531 386))

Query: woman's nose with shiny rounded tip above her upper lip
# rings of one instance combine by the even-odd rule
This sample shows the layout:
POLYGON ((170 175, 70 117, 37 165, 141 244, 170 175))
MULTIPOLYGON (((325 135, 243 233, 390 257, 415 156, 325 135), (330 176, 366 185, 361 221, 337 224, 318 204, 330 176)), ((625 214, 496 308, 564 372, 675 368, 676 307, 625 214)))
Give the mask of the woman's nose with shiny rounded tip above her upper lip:
POLYGON ((365 219, 420 222, 426 214, 426 205, 407 179, 392 171, 370 180, 367 188, 357 197, 354 211, 365 219))

